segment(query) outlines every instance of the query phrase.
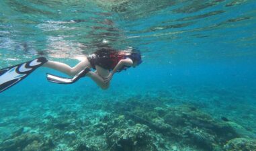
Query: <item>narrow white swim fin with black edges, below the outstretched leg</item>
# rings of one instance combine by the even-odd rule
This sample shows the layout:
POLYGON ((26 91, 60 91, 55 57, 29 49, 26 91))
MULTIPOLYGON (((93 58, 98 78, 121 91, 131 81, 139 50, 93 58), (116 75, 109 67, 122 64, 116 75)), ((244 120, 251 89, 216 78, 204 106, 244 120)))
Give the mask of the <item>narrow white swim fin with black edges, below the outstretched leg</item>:
POLYGON ((75 77, 73 77, 73 78, 58 77, 56 75, 48 73, 48 74, 46 74, 46 78, 49 82, 52 82, 52 83, 72 84, 72 83, 75 83, 76 81, 78 81, 79 79, 81 79, 82 77, 85 77, 85 74, 87 74, 87 72, 89 72, 89 71, 90 71, 89 68, 85 68, 84 70, 79 72, 77 75, 75 75, 75 77))

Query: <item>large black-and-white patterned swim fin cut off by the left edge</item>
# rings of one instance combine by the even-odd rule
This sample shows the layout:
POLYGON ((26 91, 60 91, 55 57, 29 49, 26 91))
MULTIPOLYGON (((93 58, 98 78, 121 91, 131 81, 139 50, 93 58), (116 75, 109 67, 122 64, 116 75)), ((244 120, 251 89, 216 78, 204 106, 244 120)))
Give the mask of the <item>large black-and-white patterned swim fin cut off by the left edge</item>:
POLYGON ((36 68, 42 66, 48 60, 44 57, 39 57, 22 64, 10 66, 0 70, 0 93, 15 85, 22 79, 25 79, 36 68))

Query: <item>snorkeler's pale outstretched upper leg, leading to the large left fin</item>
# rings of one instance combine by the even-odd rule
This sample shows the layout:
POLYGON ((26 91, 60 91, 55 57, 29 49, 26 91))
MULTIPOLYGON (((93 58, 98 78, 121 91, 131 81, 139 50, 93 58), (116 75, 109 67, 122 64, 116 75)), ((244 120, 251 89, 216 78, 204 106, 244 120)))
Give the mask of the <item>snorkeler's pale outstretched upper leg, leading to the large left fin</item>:
POLYGON ((85 57, 84 60, 79 62, 74 67, 71 67, 62 62, 56 62, 56 61, 50 61, 50 60, 48 62, 46 62, 43 66, 46 66, 48 68, 53 68, 60 72, 64 72, 65 74, 68 74, 71 77, 75 76, 75 74, 78 74, 81 70, 85 69, 85 67, 91 68, 91 64, 90 64, 89 60, 87 59, 87 57, 85 57))

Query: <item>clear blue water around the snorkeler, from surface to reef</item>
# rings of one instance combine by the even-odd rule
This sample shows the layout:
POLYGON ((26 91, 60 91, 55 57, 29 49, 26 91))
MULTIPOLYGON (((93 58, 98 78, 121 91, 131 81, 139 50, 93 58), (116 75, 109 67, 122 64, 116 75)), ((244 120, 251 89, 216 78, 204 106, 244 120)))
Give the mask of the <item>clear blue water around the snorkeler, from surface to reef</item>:
POLYGON ((22 127, 40 130, 51 107, 83 102, 83 111, 133 97, 192 104, 256 136, 255 1, 4 0, 0 8, 0 68, 40 55, 74 66, 102 46, 137 48, 144 61, 115 74, 106 91, 87 78, 48 83, 46 72, 64 74, 39 68, 0 94, 1 141, 22 127))

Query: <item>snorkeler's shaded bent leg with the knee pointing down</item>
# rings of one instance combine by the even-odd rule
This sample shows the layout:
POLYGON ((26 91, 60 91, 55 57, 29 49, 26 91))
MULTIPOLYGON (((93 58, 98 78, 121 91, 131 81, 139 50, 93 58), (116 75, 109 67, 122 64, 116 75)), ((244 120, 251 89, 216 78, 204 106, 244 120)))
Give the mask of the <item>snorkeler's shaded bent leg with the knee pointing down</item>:
POLYGON ((87 77, 90 77, 101 89, 108 89, 110 87, 110 82, 104 83, 104 77, 108 77, 110 71, 96 65, 97 72, 88 72, 87 77))

